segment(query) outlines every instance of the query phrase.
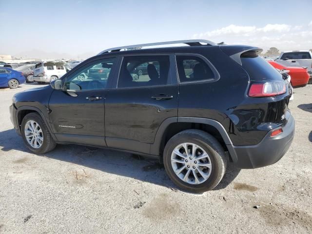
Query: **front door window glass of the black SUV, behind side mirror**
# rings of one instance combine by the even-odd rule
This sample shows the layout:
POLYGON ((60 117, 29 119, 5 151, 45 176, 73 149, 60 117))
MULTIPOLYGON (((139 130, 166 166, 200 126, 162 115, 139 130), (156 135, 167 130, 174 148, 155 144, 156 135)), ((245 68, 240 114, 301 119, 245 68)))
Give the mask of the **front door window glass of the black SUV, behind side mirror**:
POLYGON ((66 78, 65 88, 76 91, 107 88, 115 60, 116 58, 100 59, 82 67, 66 78))

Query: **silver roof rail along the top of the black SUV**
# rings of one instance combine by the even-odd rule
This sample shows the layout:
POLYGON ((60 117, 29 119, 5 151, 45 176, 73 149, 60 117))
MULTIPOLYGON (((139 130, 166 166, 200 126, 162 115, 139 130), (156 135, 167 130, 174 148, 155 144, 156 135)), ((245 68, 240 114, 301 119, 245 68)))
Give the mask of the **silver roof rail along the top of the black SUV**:
POLYGON ((163 42, 156 42, 156 43, 148 43, 148 44, 138 44, 138 45, 127 45, 121 47, 110 48, 107 50, 103 50, 102 52, 98 53, 98 55, 109 53, 109 52, 117 52, 121 49, 131 49, 133 50, 136 47, 145 47, 145 46, 155 46, 155 45, 168 45, 168 44, 187 44, 190 46, 195 45, 202 45, 200 43, 206 43, 207 45, 217 45, 215 42, 210 40, 201 40, 201 39, 193 39, 193 40, 173 40, 173 41, 163 41, 163 42))

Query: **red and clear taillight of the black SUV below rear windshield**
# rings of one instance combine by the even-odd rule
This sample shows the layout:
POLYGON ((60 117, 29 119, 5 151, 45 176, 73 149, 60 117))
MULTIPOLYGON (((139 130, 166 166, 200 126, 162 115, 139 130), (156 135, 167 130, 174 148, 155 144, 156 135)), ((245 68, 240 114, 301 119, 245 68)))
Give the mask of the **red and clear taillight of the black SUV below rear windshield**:
POLYGON ((284 81, 270 81, 265 83, 253 83, 249 89, 249 97, 273 97, 286 93, 284 81))

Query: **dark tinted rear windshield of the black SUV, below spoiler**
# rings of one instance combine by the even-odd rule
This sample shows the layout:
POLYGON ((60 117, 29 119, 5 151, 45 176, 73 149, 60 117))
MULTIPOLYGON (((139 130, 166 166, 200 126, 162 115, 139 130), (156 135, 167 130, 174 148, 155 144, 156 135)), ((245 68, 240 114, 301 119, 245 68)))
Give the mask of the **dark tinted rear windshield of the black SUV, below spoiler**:
POLYGON ((241 57, 242 67, 251 80, 282 80, 282 75, 266 60, 259 56, 241 57))

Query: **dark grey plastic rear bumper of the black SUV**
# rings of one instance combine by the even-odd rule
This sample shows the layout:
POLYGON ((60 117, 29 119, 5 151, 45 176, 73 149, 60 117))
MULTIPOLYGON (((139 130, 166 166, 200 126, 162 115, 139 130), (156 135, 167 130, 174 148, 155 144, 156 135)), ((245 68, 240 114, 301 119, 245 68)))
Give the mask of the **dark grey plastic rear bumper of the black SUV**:
POLYGON ((283 133, 270 137, 270 131, 259 144, 233 146, 237 156, 235 166, 242 169, 258 168, 271 165, 281 159, 288 151, 294 136, 295 121, 291 116, 282 126, 283 133))

